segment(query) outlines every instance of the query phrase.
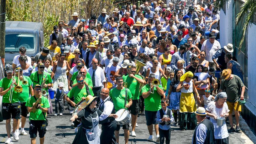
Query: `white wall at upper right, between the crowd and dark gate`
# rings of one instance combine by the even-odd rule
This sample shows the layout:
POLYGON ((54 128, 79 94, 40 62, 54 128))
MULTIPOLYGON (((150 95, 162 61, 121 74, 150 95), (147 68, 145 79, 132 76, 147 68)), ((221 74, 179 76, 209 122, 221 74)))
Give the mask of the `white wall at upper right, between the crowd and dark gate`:
POLYGON ((232 44, 232 10, 233 0, 229 0, 226 4, 226 14, 221 9, 220 12, 220 44, 221 47, 232 44))

